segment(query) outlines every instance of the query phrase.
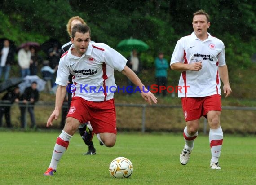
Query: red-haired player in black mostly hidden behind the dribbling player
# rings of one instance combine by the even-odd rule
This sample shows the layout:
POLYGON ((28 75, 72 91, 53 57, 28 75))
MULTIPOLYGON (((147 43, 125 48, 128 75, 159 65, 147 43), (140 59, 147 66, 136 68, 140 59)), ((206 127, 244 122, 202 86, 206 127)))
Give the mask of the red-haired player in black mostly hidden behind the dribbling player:
MULTIPOLYGON (((70 38, 71 38, 71 30, 76 24, 86 25, 86 22, 79 16, 74 16, 74 17, 70 18, 66 25, 66 31, 67 31, 68 35, 70 36, 70 38)), ((72 45, 72 42, 69 41, 68 43, 66 43, 62 46, 61 56, 69 50, 71 45, 72 45)), ((68 78, 69 85, 72 84, 72 77, 73 77, 73 75, 69 75, 69 78, 68 78)), ((70 108, 71 99, 72 99, 72 93, 69 91, 68 92, 68 109, 70 108)), ((90 126, 90 122, 81 124, 79 126, 79 134, 80 134, 82 140, 84 141, 84 143, 88 146, 88 151, 86 153, 84 153, 84 155, 95 155, 96 149, 95 149, 95 147, 93 145, 93 141, 92 141, 93 132, 90 131, 89 126, 90 126), (86 132, 86 130, 87 130, 87 132, 86 132)), ((101 142, 100 142, 100 144, 101 144, 101 142)))

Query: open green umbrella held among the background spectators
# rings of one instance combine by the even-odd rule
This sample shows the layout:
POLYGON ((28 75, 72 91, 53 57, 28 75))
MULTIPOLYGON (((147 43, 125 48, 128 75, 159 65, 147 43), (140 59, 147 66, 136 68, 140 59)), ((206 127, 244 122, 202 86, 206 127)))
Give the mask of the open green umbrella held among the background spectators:
POLYGON ((137 39, 125 39, 117 44, 117 49, 120 51, 132 51, 133 49, 136 49, 141 52, 146 51, 148 48, 148 44, 137 39))

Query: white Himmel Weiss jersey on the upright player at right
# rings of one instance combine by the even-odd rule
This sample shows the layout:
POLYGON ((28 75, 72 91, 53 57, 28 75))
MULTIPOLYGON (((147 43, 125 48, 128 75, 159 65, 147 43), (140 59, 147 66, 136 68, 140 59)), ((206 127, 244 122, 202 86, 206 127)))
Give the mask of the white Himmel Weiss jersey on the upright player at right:
POLYGON ((218 66, 226 64, 225 47, 221 40, 207 34, 208 38, 202 41, 193 32, 178 40, 175 46, 171 65, 176 62, 191 64, 202 61, 201 70, 187 70, 181 73, 179 81, 181 91, 178 92, 178 97, 206 97, 221 94, 218 66))

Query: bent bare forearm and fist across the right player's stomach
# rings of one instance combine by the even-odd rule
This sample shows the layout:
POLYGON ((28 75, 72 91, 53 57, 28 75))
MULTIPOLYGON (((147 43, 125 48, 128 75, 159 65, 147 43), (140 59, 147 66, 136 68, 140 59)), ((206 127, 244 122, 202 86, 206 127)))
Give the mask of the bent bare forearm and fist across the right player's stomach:
POLYGON ((186 70, 199 71, 202 69, 202 61, 193 62, 191 64, 184 64, 182 62, 173 63, 171 65, 171 69, 178 70, 178 71, 186 71, 186 70))

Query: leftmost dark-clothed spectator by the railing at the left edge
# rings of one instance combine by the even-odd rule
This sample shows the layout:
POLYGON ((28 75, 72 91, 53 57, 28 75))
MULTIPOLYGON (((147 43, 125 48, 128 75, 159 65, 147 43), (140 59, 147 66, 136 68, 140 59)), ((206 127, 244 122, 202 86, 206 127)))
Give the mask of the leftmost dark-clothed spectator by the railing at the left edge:
POLYGON ((8 106, 0 107, 0 127, 2 126, 2 118, 5 115, 6 126, 11 128, 13 125, 11 124, 11 105, 16 102, 19 102, 20 89, 19 87, 15 87, 13 90, 8 91, 3 97, 2 102, 4 104, 9 104, 8 106))

